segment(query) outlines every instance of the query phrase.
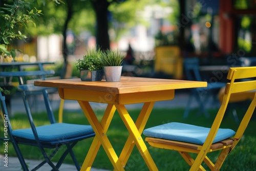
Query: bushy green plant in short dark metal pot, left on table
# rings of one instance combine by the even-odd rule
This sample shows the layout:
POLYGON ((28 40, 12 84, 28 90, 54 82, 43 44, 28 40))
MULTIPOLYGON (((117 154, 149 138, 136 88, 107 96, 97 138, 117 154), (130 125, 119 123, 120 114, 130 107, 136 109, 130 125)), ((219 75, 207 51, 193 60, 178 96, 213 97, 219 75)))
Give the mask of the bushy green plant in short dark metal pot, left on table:
POLYGON ((98 50, 88 50, 87 54, 76 62, 77 70, 80 70, 82 81, 101 81, 103 70, 100 57, 102 52, 98 50))

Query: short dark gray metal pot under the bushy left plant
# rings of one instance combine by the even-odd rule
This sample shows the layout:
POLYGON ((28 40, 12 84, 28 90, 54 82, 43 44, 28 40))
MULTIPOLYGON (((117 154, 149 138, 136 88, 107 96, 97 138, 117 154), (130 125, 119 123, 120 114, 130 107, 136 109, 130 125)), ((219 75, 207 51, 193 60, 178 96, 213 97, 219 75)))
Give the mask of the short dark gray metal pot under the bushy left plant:
POLYGON ((80 78, 82 81, 101 81, 103 77, 103 70, 89 71, 80 70, 80 78))

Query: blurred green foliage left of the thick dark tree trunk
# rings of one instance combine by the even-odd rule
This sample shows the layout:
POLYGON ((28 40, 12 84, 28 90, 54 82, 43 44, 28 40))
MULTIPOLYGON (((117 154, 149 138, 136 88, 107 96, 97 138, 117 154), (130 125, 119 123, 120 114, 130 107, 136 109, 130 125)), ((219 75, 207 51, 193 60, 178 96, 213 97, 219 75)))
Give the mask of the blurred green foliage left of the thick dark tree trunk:
POLYGON ((89 1, 63 0, 63 3, 42 3, 38 1, 37 8, 44 13, 38 18, 37 27, 29 25, 26 30, 28 34, 34 35, 50 35, 62 34, 68 19, 67 29, 72 30, 75 34, 79 34, 84 30, 94 33, 95 30, 95 14, 89 1), (70 16, 68 13, 70 11, 70 16))

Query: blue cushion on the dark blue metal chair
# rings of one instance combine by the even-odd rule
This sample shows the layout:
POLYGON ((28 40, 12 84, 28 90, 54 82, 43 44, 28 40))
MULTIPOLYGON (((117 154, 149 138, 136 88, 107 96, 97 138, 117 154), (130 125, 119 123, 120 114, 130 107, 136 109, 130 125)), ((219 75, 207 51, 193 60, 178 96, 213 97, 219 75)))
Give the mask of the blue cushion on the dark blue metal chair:
MULTIPOLYGON (((94 133, 91 125, 70 123, 54 123, 36 126, 36 131, 40 141, 58 141, 94 133)), ((12 134, 14 137, 35 140, 32 129, 14 130, 12 134)))

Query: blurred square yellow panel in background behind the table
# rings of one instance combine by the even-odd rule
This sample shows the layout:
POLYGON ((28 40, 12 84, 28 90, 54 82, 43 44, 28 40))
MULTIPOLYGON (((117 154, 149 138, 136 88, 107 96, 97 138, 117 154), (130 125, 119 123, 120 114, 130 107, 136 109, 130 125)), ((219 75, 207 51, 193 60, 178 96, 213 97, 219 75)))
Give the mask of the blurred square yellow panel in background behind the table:
POLYGON ((155 71, 182 78, 182 58, 178 46, 160 46, 155 48, 155 71))

